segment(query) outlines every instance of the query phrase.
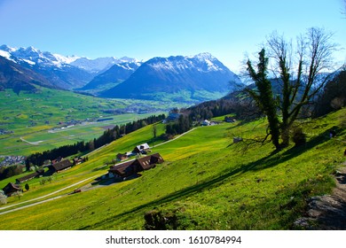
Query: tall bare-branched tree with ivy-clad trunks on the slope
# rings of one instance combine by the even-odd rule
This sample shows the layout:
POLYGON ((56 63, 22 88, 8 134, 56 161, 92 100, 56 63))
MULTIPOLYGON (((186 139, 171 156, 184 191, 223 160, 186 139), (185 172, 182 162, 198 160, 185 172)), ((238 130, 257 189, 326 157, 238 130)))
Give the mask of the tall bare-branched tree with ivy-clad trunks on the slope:
MULTIPOLYGON (((260 76, 254 74, 254 69, 248 60, 248 74, 257 86, 257 89, 248 90, 249 96, 256 100, 257 105, 267 115, 271 130, 269 134, 276 148, 288 145, 289 130, 299 117, 303 107, 311 105, 318 91, 331 78, 331 73, 334 72, 333 53, 337 50, 337 44, 332 43, 332 38, 333 34, 326 32, 323 28, 311 27, 306 34, 297 38, 294 46, 283 35, 274 32, 266 43, 269 58, 259 57, 258 74, 261 73, 260 76), (267 63, 271 66, 271 73, 276 77, 275 83, 280 84, 279 97, 270 96, 271 94, 268 92, 271 92, 271 89, 266 89, 265 93, 258 88, 260 81, 269 80, 269 69, 261 66, 261 60, 264 61, 265 59, 268 59, 267 63), (266 99, 267 102, 264 102, 263 99, 266 99), (271 117, 265 110, 268 101, 271 103, 271 117), (272 112, 273 109, 281 118, 275 116, 272 112), (272 121, 274 123, 271 123, 272 121), (278 125, 279 135, 282 139, 280 145, 278 145, 276 131, 275 136, 273 136, 271 128, 278 125)), ((262 56, 264 55, 262 54, 262 56)), ((266 85, 271 87, 268 83, 266 85)))

